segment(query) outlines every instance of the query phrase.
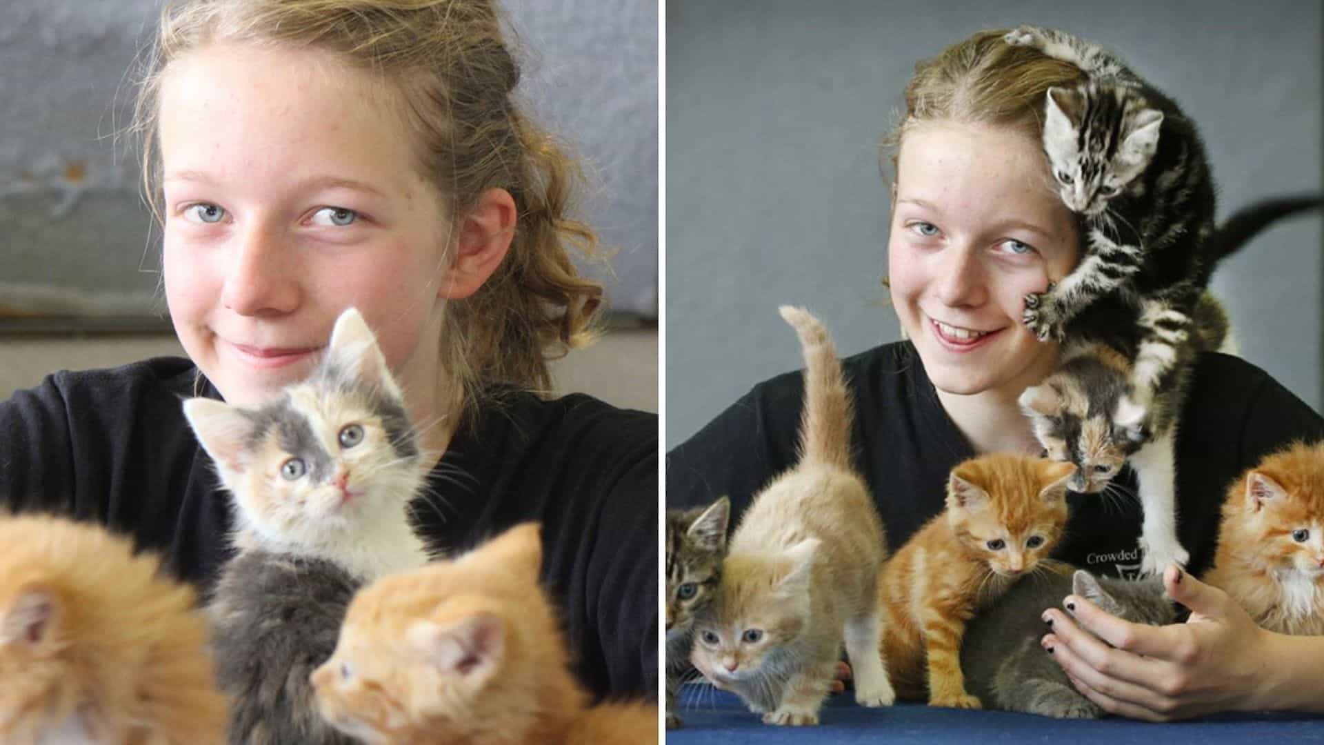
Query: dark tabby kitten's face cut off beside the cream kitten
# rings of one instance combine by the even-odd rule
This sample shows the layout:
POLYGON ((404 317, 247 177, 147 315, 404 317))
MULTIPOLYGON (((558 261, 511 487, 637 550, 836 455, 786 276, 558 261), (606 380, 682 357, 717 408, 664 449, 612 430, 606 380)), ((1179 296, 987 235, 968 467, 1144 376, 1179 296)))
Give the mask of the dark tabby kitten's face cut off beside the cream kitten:
POLYGON ((706 508, 666 514, 666 632, 667 639, 690 631, 694 616, 708 603, 722 579, 731 501, 722 497, 706 508))

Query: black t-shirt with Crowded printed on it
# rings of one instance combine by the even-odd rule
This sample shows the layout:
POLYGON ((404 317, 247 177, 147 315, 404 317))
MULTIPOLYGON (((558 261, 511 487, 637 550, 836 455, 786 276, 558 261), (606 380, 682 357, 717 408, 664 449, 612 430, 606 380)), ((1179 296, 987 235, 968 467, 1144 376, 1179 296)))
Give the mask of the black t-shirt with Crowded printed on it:
MULTIPOLYGON (((910 342, 842 361, 855 396, 854 463, 878 504, 895 550, 943 510, 947 479, 974 451, 947 416, 910 342)), ((722 494, 739 514, 768 481, 796 463, 801 372, 753 387, 703 430, 667 453, 669 506, 722 494)), ((1233 479, 1292 440, 1324 437, 1324 419, 1263 370, 1235 357, 1205 354, 1177 427, 1177 534, 1190 570, 1209 567, 1219 506, 1233 479)), ((1125 468, 1113 488, 1136 493, 1125 468)), ((1137 498, 1067 494, 1070 521, 1054 555, 1091 571, 1133 577, 1139 570, 1137 498)))

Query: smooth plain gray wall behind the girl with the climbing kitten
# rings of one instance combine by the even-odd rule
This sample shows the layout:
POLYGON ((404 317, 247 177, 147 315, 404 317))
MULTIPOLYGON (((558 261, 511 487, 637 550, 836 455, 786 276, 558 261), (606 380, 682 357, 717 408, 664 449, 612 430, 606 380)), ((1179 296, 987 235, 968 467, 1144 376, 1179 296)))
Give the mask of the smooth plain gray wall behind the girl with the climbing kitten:
MULTIPOLYGON (((776 314, 806 305, 854 354, 895 341, 879 135, 922 57, 981 28, 1058 27, 1103 44, 1202 127, 1219 216, 1319 191, 1320 3, 669 0, 666 443, 801 366, 776 314)), ((1262 235, 1214 289, 1242 355, 1321 400, 1319 217, 1262 235)))

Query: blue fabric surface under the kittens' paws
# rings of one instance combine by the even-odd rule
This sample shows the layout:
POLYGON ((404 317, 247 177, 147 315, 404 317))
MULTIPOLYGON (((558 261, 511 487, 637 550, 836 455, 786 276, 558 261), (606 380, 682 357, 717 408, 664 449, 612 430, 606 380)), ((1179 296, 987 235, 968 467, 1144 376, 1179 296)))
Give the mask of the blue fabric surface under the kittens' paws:
POLYGON ((818 726, 769 726, 732 693, 711 685, 686 685, 681 693, 681 729, 669 729, 667 744, 720 742, 1051 742, 1086 745, 1169 745, 1174 742, 1238 744, 1324 742, 1324 716, 1298 713, 1219 715, 1152 724, 1123 718, 1055 720, 1008 712, 939 709, 900 703, 886 709, 857 707, 850 692, 831 696, 818 726))

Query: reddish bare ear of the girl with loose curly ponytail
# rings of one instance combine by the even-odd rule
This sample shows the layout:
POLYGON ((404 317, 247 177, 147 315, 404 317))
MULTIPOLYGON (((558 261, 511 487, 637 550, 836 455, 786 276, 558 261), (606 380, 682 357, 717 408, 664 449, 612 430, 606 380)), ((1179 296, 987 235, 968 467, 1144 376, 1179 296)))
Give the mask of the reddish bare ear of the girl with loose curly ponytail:
POLYGON ((441 278, 437 296, 461 300, 478 292, 506 258, 516 220, 515 198, 508 191, 485 191, 459 223, 455 256, 441 278))

